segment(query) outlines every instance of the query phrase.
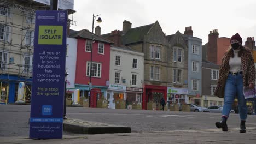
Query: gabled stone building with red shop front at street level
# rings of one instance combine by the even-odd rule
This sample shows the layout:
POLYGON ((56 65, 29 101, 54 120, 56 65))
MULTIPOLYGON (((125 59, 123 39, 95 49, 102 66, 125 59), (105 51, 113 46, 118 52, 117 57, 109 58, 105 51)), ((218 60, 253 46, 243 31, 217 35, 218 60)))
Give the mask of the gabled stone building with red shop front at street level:
MULTIPOLYGON (((142 109, 147 109, 148 102, 159 104, 161 98, 166 100, 167 97, 168 43, 158 21, 135 28, 131 25, 129 21, 123 22, 120 40, 117 41, 133 51, 144 53, 142 109)), ((109 38, 111 33, 102 36, 109 38)))

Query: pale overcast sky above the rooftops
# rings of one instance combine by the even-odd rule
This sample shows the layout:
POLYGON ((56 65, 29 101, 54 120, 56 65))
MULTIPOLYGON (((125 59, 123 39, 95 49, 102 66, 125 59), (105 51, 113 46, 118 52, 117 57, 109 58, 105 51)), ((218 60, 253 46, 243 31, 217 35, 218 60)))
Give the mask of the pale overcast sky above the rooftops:
MULTIPOLYGON (((208 34, 218 29, 219 37, 230 38, 240 33, 245 44, 247 37, 256 39, 255 0, 74 0, 74 21, 71 29, 92 29, 92 14, 101 14, 101 34, 121 30, 123 21, 132 28, 159 21, 166 35, 192 26, 194 37, 208 42, 208 34)), ((98 23, 95 23, 95 27, 98 23)))

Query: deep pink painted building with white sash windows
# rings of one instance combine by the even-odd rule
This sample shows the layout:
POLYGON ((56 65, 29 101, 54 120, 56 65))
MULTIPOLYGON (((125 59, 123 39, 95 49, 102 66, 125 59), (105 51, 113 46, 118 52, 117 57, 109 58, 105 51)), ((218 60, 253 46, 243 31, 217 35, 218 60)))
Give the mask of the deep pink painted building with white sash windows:
POLYGON ((92 51, 92 88, 101 89, 102 96, 106 97, 109 83, 110 45, 113 42, 96 34, 92 41, 92 33, 86 29, 71 31, 71 37, 77 38, 75 89, 80 90, 80 97, 88 98, 92 51))

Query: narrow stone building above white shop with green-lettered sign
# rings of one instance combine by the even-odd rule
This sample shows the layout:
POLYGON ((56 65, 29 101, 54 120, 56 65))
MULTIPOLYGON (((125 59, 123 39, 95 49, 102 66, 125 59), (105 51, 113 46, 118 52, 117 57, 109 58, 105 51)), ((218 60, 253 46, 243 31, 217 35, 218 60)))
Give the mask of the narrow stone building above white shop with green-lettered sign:
POLYGON ((186 35, 177 31, 166 36, 168 40, 168 101, 170 104, 189 103, 188 46, 186 35))

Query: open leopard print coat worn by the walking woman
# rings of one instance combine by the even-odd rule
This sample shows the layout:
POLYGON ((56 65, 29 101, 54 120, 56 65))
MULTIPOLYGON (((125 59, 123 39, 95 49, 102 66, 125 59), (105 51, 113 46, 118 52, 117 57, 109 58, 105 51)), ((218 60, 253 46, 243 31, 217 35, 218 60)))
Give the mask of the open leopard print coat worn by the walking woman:
MULTIPOLYGON (((241 62, 242 62, 242 69, 243 69, 243 87, 247 87, 249 83, 255 83, 255 66, 253 61, 253 56, 250 50, 245 49, 241 53, 241 62)), ((229 59, 233 55, 233 51, 229 50, 225 53, 222 64, 219 68, 219 80, 217 83, 217 87, 214 91, 214 95, 223 98, 224 97, 224 89, 225 89, 225 81, 227 79, 229 73, 229 59)))

